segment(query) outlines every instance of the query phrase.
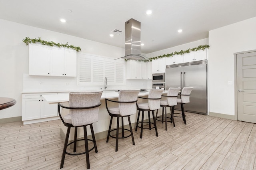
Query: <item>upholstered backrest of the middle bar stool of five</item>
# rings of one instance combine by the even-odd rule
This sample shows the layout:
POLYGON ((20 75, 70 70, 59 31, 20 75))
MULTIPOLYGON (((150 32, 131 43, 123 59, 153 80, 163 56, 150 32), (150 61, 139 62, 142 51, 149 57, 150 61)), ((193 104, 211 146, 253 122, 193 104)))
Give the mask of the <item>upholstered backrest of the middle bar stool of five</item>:
POLYGON ((150 89, 148 93, 148 107, 150 110, 160 109, 160 100, 164 89, 150 89), (152 100, 154 99, 154 100, 152 100), (156 100, 157 99, 157 100, 156 100))

